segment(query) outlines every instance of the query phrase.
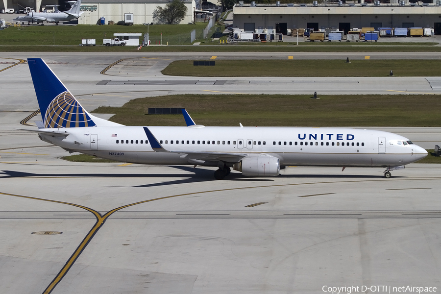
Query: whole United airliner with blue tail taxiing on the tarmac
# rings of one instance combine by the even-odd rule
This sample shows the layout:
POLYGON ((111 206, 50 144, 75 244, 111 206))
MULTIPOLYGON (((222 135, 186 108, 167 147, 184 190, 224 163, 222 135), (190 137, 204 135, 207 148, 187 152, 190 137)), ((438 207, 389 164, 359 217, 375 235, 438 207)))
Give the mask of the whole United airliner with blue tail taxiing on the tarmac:
POLYGON ((427 155, 409 139, 353 128, 204 126, 182 109, 187 126, 125 126, 87 112, 40 58, 27 59, 42 122, 42 141, 114 161, 231 168, 245 176, 277 176, 287 166, 403 169, 427 155))

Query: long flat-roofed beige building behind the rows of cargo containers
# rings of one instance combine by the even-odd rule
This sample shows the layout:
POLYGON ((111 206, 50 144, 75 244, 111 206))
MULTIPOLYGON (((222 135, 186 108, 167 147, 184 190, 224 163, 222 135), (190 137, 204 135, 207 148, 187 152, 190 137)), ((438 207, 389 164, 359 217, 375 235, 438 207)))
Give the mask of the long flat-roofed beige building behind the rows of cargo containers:
MULTIPOLYGON (((436 0, 434 0, 436 1, 436 0)), ((242 2, 242 1, 241 1, 242 2)), ((314 1, 316 2, 316 1, 314 1)), ((345 31, 362 27, 431 27, 441 35, 441 6, 435 3, 396 4, 236 4, 233 27, 245 32, 275 29, 287 35, 291 28, 338 28, 345 31)))

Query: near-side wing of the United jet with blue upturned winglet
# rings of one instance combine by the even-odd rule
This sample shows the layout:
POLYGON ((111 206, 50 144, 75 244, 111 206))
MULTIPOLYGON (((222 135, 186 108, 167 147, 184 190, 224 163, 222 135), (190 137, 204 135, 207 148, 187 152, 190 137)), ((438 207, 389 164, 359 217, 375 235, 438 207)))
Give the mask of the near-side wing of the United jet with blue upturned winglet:
POLYGON ((170 153, 179 153, 183 154, 182 158, 201 160, 201 161, 227 161, 227 162, 238 162, 245 156, 248 156, 247 153, 230 153, 230 152, 209 152, 209 151, 185 151, 185 150, 167 150, 159 144, 158 140, 156 140, 155 136, 150 132, 147 127, 144 127, 144 131, 146 132, 147 139, 150 141, 150 146, 155 152, 170 152, 170 153))

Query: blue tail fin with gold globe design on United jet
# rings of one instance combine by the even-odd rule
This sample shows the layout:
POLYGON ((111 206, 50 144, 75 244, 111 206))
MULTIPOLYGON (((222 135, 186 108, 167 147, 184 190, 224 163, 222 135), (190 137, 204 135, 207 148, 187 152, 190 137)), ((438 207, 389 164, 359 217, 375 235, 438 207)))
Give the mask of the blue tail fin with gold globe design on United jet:
POLYGON ((94 117, 41 58, 28 58, 27 63, 45 128, 96 126, 94 117))

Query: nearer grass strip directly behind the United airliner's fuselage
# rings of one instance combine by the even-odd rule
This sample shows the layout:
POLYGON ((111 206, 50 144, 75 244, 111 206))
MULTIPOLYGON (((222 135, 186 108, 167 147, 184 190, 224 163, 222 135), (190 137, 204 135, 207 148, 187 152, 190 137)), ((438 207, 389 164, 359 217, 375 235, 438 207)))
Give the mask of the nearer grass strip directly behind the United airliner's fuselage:
POLYGON ((149 107, 186 108, 197 124, 237 126, 439 127, 441 95, 169 95, 102 106, 125 125, 185 125, 181 115, 147 115, 149 107))

